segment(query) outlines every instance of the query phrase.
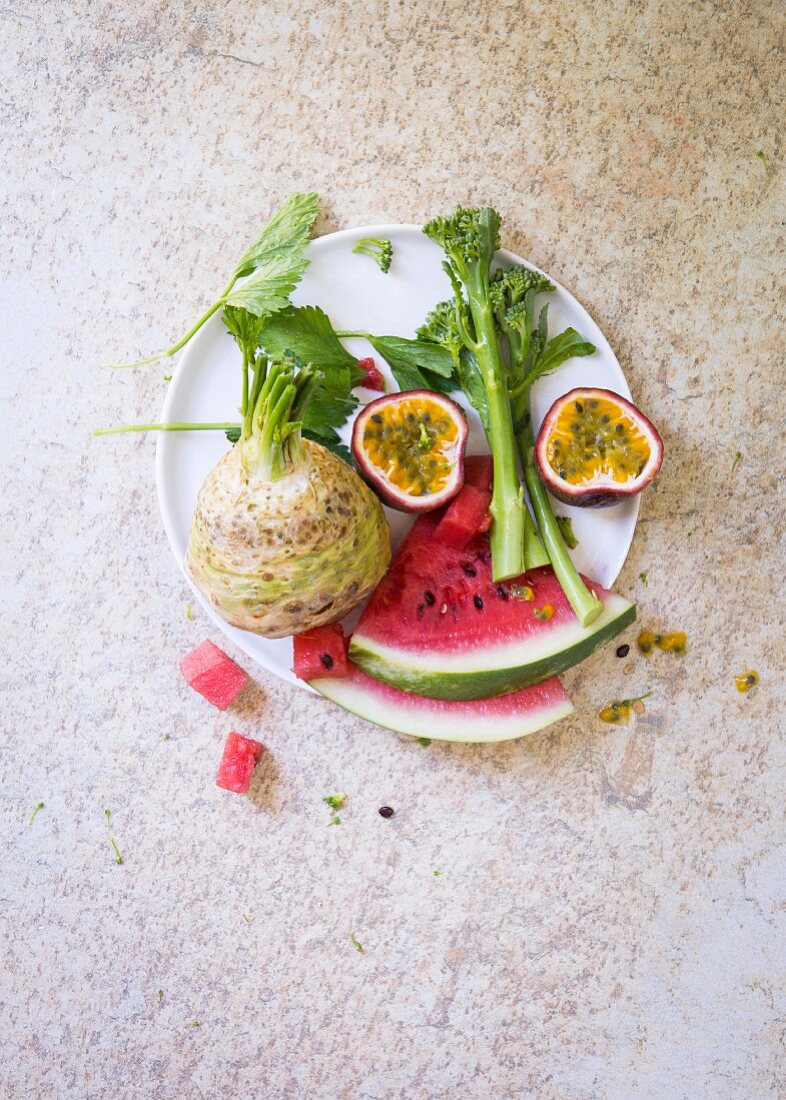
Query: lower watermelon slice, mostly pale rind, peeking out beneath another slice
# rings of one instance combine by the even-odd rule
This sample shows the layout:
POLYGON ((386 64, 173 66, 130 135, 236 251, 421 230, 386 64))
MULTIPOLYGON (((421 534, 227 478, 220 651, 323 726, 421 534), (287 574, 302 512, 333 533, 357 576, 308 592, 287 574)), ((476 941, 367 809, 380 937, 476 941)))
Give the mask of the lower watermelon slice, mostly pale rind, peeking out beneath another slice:
POLYGON ((399 734, 442 741, 507 741, 535 734, 573 712, 556 676, 498 698, 464 703, 398 691, 354 664, 341 680, 325 678, 310 683, 325 698, 361 718, 399 734))

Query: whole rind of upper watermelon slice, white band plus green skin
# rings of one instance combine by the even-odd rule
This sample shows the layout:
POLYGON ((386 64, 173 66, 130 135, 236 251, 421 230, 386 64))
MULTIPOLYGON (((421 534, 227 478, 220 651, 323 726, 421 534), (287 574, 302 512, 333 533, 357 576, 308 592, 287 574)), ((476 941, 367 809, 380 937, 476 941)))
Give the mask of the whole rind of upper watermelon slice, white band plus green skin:
POLYGON ((435 700, 483 700, 529 688, 586 660, 635 620, 635 604, 616 593, 587 627, 577 618, 550 624, 542 635, 460 652, 412 651, 356 630, 350 659, 391 688, 435 700))

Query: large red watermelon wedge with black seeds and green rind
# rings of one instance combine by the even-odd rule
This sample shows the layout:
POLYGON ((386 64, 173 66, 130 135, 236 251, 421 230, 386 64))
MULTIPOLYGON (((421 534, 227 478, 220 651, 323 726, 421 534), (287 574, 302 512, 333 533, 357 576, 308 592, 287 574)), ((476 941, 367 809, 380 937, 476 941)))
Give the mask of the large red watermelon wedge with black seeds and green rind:
POLYGON ((635 618, 634 604, 585 578, 604 610, 583 627, 551 568, 495 583, 488 537, 456 550, 434 539, 438 522, 418 517, 350 645, 352 661, 394 688, 444 700, 518 691, 578 664, 635 618))

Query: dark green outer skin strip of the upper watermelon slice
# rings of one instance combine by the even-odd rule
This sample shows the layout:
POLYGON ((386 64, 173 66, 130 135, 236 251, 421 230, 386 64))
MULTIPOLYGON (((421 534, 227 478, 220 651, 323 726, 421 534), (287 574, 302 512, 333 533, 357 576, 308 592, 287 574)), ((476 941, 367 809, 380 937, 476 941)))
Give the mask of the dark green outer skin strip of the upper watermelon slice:
POLYGON ((450 669, 450 654, 445 654, 444 671, 423 671, 418 668, 417 653, 401 651, 402 660, 394 663, 387 656, 383 658, 376 652, 373 642, 363 638, 358 640, 357 635, 353 636, 350 645, 350 659, 375 680, 381 680, 383 683, 411 695, 458 701, 490 698, 494 695, 507 695, 520 688, 542 683, 550 676, 572 669, 621 634, 633 622, 635 622, 635 604, 630 604, 615 618, 606 622, 600 629, 587 627, 584 636, 573 645, 528 661, 525 664, 507 668, 458 672, 450 669), (405 663, 405 660, 408 663, 405 663))

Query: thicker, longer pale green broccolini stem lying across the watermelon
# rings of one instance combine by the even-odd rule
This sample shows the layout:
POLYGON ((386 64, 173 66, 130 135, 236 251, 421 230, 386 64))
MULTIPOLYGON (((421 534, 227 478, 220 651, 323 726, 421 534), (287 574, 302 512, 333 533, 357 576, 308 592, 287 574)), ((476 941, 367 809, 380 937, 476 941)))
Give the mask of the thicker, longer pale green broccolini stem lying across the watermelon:
POLYGON ((524 571, 524 496, 516 461, 513 419, 508 385, 488 299, 488 275, 467 280, 469 311, 475 327, 474 352, 488 402, 488 442, 494 458, 491 574, 495 581, 524 571))

